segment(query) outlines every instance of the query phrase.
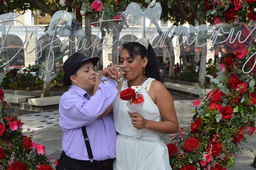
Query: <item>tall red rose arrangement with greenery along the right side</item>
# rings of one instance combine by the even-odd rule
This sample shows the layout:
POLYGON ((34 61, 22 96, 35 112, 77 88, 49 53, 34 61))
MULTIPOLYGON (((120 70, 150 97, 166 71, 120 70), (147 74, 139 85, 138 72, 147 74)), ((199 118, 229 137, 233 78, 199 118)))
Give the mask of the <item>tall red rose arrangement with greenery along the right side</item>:
MULTIPOLYGON (((221 59, 215 63, 216 72, 206 75, 214 88, 204 94, 196 84, 200 99, 193 102, 195 110, 191 124, 170 136, 171 143, 167 146, 173 169, 226 170, 234 165, 236 155, 241 151, 240 143, 255 135, 256 37, 252 31, 256 21, 251 20, 256 19, 256 12, 252 10, 255 3, 255 0, 253 3, 205 0, 205 8, 214 11, 214 15, 208 11, 209 16, 212 15, 209 19, 218 23, 234 21, 215 27, 223 28, 223 32, 232 28, 234 34, 217 38, 218 42, 224 42, 229 36, 232 43, 221 44, 225 52, 222 51, 221 59), (248 23, 245 23, 246 17, 248 23), (237 34, 240 34, 239 38, 237 34)), ((248 150, 255 152, 253 147, 248 150)))

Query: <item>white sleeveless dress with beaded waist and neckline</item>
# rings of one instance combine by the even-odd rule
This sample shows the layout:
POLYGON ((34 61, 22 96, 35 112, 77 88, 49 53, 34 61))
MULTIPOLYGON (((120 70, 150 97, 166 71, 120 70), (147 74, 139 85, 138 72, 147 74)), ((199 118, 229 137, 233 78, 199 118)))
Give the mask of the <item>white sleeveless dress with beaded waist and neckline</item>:
MULTIPOLYGON (((145 119, 162 121, 157 105, 147 94, 151 82, 148 78, 142 85, 144 97, 140 114, 145 119)), ((128 88, 123 82, 121 91, 128 88)), ((160 134, 148 129, 134 128, 127 112, 127 101, 116 97, 113 103, 115 129, 118 133, 114 170, 171 170, 167 146, 161 141, 160 134)))

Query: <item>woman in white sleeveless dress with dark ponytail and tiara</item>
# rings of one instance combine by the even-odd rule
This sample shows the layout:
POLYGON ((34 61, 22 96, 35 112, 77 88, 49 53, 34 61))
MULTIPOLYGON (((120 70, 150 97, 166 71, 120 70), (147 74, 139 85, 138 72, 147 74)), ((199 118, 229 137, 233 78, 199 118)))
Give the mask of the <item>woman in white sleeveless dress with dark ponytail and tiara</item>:
POLYGON ((118 133, 114 170, 170 170, 168 149, 160 135, 176 133, 179 123, 172 96, 159 81, 158 62, 148 40, 124 44, 120 65, 127 81, 119 83, 118 90, 142 86, 144 103, 140 113, 128 112, 120 95, 113 103, 118 133))

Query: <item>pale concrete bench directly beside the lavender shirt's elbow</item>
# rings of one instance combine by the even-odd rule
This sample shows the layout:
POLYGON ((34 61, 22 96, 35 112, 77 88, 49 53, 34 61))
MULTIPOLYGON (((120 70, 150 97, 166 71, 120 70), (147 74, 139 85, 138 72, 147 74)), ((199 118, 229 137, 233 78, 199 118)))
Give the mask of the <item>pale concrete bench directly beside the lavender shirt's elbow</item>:
POLYGON ((42 98, 30 98, 28 99, 28 104, 32 106, 50 106, 58 105, 61 96, 51 96, 42 98))

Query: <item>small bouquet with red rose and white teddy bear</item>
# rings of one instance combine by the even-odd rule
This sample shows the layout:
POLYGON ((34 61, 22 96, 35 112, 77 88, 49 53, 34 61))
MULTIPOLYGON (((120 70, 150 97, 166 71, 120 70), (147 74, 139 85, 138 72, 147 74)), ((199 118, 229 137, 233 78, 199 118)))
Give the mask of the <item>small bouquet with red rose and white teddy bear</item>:
POLYGON ((140 113, 142 111, 144 98, 140 94, 142 86, 132 86, 120 92, 120 99, 129 101, 127 107, 131 113, 140 113))

